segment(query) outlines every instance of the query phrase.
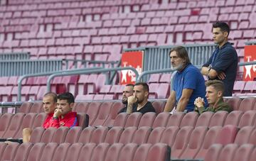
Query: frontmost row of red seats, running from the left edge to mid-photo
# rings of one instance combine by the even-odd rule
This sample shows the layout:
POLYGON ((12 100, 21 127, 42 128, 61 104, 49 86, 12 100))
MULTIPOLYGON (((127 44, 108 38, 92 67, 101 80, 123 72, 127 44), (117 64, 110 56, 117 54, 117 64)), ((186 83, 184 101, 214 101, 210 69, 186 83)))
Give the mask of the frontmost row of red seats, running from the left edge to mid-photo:
POLYGON ((169 161, 170 148, 164 143, 0 143, 1 160, 27 161, 169 161))

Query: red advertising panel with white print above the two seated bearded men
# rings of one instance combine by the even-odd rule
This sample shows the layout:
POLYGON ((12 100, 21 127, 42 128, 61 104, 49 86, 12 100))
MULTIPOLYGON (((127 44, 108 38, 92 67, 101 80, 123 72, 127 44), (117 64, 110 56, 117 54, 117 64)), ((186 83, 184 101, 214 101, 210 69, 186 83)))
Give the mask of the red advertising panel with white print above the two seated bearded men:
MULTIPOLYGON (((134 67, 139 74, 142 73, 143 51, 122 53, 121 67, 134 67)), ((134 84, 136 81, 135 73, 132 70, 122 70, 120 84, 134 84)))

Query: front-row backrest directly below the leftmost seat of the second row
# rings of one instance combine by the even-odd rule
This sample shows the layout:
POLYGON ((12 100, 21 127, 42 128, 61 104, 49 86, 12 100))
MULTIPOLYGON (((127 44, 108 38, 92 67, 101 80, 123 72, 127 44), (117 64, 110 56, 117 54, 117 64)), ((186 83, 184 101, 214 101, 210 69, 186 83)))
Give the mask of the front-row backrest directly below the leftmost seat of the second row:
POLYGON ((40 160, 43 149, 45 148, 46 143, 36 143, 33 145, 31 150, 28 153, 27 161, 40 160))

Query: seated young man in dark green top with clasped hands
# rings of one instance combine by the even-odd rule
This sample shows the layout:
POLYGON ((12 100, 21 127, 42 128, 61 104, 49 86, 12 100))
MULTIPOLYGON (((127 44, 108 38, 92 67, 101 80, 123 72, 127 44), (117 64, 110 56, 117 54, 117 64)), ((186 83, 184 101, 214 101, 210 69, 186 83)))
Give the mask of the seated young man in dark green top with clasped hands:
POLYGON ((203 113, 205 111, 232 111, 232 108, 228 103, 223 101, 223 93, 225 87, 223 82, 220 80, 209 80, 206 82, 206 99, 209 106, 205 108, 205 102, 201 97, 198 97, 195 101, 195 111, 203 113))

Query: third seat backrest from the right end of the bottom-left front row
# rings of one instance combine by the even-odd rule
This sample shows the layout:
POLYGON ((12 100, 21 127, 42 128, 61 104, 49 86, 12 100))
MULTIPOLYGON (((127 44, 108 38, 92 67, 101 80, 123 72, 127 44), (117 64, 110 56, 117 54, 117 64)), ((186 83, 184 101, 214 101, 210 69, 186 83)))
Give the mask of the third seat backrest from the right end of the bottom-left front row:
POLYGON ((127 143, 120 151, 118 161, 130 161, 134 157, 138 145, 136 143, 127 143))

